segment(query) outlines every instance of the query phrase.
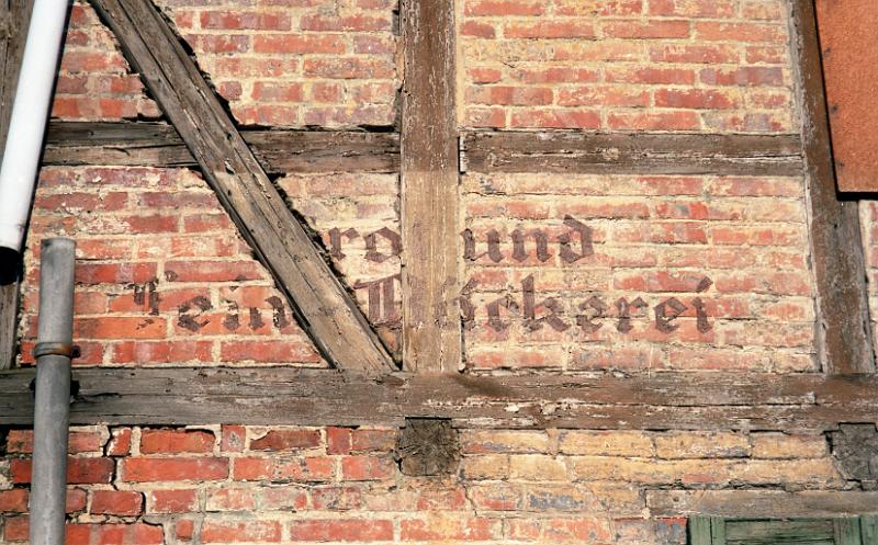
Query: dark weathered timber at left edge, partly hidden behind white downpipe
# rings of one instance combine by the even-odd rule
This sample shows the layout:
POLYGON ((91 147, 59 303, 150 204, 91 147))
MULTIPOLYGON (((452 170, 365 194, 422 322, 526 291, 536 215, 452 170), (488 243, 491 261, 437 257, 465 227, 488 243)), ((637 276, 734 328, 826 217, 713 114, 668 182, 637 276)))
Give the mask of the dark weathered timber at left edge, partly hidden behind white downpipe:
MULTIPOLYGON (((0 1, 0 154, 7 145, 31 11, 33 0, 0 1)), ((15 359, 21 266, 20 254, 0 253, 0 370, 9 368, 15 359)))

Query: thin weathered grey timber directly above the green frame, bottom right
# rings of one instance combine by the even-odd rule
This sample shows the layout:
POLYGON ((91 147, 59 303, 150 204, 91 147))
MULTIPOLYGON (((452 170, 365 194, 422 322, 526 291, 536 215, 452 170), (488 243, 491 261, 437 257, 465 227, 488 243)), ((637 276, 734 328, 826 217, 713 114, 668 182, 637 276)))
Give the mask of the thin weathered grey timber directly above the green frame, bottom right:
POLYGON ((878 513, 878 492, 843 490, 649 490, 652 516, 818 518, 878 513))

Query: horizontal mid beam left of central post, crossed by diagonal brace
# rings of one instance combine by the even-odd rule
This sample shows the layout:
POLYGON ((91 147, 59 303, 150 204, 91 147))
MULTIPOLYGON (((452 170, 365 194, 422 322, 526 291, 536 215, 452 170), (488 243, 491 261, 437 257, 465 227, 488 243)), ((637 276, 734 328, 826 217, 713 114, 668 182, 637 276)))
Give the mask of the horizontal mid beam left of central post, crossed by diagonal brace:
MULTIPOLYGON (((398 172, 395 133, 241 130, 262 168, 292 172, 398 172)), ((43 164, 199 168, 172 125, 53 121, 43 164)))

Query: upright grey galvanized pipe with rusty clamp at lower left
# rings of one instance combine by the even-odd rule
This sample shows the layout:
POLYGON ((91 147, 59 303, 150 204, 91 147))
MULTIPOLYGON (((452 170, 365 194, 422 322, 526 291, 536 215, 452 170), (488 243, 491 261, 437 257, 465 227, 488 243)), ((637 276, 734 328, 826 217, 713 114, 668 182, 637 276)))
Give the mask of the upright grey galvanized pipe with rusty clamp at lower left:
POLYGON ((74 252, 68 238, 43 241, 40 263, 31 545, 64 545, 67 432, 74 342, 74 252))

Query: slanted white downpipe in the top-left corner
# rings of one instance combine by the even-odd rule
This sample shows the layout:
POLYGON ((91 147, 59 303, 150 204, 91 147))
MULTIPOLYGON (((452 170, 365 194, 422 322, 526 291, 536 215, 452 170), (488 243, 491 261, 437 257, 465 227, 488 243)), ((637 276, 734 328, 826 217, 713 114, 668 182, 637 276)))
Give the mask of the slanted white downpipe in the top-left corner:
POLYGON ((21 251, 70 0, 35 0, 0 168, 0 247, 21 251))

